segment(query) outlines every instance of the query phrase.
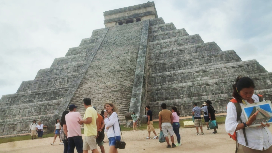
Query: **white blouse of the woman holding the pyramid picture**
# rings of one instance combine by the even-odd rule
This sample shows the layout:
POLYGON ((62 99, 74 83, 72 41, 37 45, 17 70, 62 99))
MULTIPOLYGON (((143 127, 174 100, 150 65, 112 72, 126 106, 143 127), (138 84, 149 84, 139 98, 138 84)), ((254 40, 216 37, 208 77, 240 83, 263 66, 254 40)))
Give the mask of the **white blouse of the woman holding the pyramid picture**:
MULTIPOLYGON (((254 103, 259 102, 259 97, 257 95, 252 95, 252 99, 254 103)), ((244 100, 246 104, 249 104, 246 100, 244 100)), ((240 105, 243 105, 240 103, 240 105)), ((242 112, 240 116, 242 122, 246 122, 246 118, 242 112)), ((227 106, 227 117, 225 121, 225 129, 227 133, 231 135, 234 134, 237 125, 240 121, 237 120, 237 112, 236 107, 233 102, 229 102, 227 106)), ((272 135, 267 127, 246 127, 246 138, 248 140, 248 146, 246 146, 245 137, 243 134, 243 130, 237 131, 237 140, 238 143, 246 146, 251 149, 262 150, 263 148, 266 150, 272 145, 272 135)))

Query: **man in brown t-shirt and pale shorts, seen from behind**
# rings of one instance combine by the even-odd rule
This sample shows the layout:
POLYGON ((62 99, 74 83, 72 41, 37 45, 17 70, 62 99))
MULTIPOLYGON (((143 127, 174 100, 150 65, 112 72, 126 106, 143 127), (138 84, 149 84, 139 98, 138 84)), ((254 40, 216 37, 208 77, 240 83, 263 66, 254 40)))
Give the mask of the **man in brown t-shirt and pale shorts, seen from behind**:
POLYGON ((166 110, 165 103, 162 103, 161 107, 162 107, 162 110, 159 112, 159 127, 160 127, 160 130, 163 132, 165 141, 167 142, 166 148, 171 148, 168 135, 170 135, 170 138, 171 138, 172 148, 175 148, 176 145, 174 144, 174 131, 172 128, 172 123, 173 123, 172 112, 169 110, 166 110))

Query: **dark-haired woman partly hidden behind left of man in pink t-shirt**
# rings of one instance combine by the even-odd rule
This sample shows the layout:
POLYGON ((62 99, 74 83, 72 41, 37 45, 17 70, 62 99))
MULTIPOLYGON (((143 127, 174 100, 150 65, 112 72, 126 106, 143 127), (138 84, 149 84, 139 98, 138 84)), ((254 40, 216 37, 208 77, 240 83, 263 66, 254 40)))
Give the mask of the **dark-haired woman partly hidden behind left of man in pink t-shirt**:
POLYGON ((60 120, 60 139, 62 140, 64 150, 63 153, 67 153, 68 151, 68 139, 67 139, 67 126, 65 121, 65 115, 68 114, 69 111, 64 111, 60 120))

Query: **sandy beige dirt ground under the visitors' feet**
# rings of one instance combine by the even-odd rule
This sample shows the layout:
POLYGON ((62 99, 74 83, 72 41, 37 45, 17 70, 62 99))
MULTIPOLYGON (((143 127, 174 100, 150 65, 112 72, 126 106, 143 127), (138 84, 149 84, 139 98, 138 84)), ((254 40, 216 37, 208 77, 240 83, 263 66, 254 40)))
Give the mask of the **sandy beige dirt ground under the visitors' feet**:
MULTIPOLYGON (((118 149, 119 153, 125 152, 137 152, 137 153, 153 153, 153 152, 220 152, 229 153, 234 152, 236 147, 236 142, 231 139, 226 131, 225 125, 220 124, 218 128, 218 133, 212 135, 213 130, 206 130, 203 127, 204 135, 195 135, 196 129, 191 128, 180 128, 181 135, 181 146, 176 148, 166 148, 167 143, 160 143, 158 139, 146 139, 148 133, 146 130, 138 131, 124 131, 123 139, 126 143, 125 149, 118 149)), ((271 128, 269 128, 272 132, 271 128)), ((200 131, 200 129, 199 129, 200 131)), ((156 129, 157 135, 159 135, 159 129, 156 129)), ((83 136, 83 135, 82 135, 83 136)), ((151 133, 151 137, 154 134, 151 133)), ((30 138, 30 136, 29 136, 30 138)), ((84 138, 84 137, 83 137, 84 138)), ((63 152, 63 145, 58 145, 59 140, 57 139, 55 145, 52 146, 50 143, 53 142, 53 137, 36 139, 36 140, 23 140, 16 142, 8 142, 0 144, 0 153, 29 153, 29 152, 39 152, 39 153, 56 153, 63 152)), ((104 139, 105 152, 109 152, 109 140, 107 137, 104 139)), ((174 143, 177 143, 176 136, 174 135, 174 143)), ((100 148, 98 151, 100 151, 100 148)), ((76 152, 76 149, 75 149, 76 152)), ((90 151, 89 151, 90 152, 90 151)))

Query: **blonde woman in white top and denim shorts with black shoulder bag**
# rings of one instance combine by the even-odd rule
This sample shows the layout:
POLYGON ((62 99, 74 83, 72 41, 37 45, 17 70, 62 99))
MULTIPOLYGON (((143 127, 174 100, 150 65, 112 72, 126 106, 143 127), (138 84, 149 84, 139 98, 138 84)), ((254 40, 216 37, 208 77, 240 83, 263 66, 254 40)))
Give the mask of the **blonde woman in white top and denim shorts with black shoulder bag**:
POLYGON ((107 132, 107 137, 109 139, 109 153, 118 153, 117 148, 115 148, 116 141, 121 140, 121 129, 119 126, 118 119, 118 108, 112 103, 107 102, 104 104, 105 112, 105 132, 107 132))

